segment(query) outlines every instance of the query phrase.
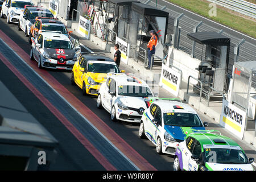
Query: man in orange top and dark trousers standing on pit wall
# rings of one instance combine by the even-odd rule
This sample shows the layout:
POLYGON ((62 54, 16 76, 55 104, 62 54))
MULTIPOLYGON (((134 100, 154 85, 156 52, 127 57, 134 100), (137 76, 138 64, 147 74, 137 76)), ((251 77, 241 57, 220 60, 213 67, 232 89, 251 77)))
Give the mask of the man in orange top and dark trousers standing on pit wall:
POLYGON ((150 41, 147 44, 147 48, 148 48, 148 51, 147 51, 148 66, 146 67, 146 69, 150 69, 151 58, 152 58, 152 65, 154 63, 154 57, 152 57, 152 55, 155 54, 155 46, 156 46, 156 43, 158 42, 158 37, 157 37, 157 34, 154 30, 150 30, 150 35, 151 35, 151 38, 150 38, 150 41))

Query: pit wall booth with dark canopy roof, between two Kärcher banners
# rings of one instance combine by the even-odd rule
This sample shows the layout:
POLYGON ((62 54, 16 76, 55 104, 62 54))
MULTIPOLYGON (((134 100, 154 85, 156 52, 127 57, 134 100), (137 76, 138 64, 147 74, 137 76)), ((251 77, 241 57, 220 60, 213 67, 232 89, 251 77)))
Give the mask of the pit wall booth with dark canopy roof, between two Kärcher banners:
POLYGON ((193 92, 211 102, 222 102, 229 88, 227 77, 230 38, 218 32, 195 32, 187 35, 189 39, 206 46, 203 48, 201 63, 197 71, 197 84, 193 85, 193 92))

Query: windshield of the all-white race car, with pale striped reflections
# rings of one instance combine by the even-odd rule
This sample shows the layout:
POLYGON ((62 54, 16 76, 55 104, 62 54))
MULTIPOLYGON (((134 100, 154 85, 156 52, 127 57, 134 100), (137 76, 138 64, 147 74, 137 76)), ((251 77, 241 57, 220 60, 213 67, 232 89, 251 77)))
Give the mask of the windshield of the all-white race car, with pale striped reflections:
POLYGON ((152 97, 150 88, 146 86, 118 85, 119 96, 152 97))

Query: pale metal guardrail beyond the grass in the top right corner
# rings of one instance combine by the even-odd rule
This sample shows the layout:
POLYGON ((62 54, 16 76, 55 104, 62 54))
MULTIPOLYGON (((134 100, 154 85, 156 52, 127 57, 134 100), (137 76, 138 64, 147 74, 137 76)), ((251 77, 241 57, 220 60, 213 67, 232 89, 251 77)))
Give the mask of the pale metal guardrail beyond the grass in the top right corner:
POLYGON ((256 19, 256 5, 241 0, 207 0, 256 19))

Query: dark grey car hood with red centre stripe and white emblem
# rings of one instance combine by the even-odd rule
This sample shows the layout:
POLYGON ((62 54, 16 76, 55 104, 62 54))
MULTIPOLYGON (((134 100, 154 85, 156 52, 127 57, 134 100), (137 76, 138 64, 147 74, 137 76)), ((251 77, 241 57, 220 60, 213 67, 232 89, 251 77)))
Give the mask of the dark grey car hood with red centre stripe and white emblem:
POLYGON ((53 48, 44 48, 44 51, 52 58, 56 60, 72 60, 75 56, 74 49, 53 49, 53 48))

